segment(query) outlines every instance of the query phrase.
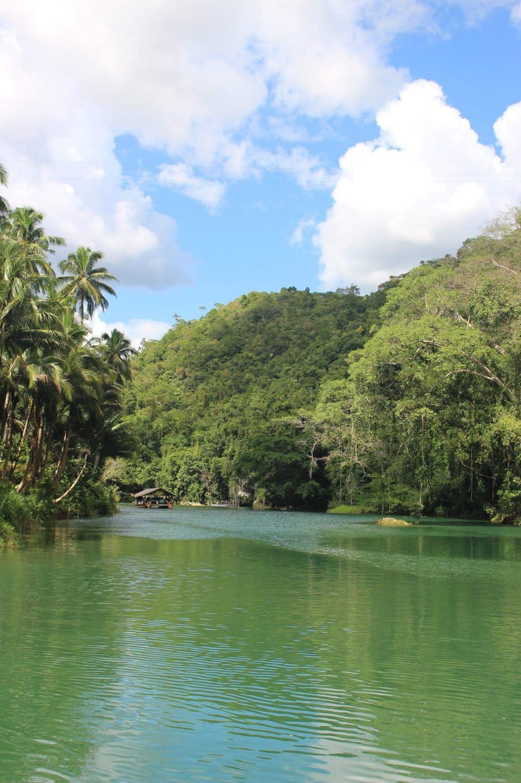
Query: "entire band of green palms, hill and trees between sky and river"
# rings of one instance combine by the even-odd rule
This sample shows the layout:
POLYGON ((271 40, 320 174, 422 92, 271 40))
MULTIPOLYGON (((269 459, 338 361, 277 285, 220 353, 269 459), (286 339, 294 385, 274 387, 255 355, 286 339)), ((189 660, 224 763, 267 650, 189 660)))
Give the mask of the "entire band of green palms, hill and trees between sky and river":
POLYGON ((116 295, 102 253, 56 271, 65 240, 43 220, 0 199, 0 547, 151 486, 192 505, 521 520, 519 208, 372 294, 252 291, 137 353, 88 327, 116 295))

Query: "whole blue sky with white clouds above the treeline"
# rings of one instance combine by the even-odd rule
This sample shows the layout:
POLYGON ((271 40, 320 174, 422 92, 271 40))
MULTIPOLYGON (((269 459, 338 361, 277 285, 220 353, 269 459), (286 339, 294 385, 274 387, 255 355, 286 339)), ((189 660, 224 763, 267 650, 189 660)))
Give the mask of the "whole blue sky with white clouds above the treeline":
POLYGON ((93 326, 136 342, 252 289, 372 290, 519 204, 520 43, 508 0, 0 0, 7 195, 105 252, 93 326))

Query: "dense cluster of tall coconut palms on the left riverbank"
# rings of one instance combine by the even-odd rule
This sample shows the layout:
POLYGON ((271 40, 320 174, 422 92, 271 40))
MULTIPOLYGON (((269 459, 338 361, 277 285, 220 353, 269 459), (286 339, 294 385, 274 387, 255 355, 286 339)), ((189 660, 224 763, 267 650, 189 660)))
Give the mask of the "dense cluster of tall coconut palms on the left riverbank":
POLYGON ((120 416, 131 345, 117 330, 94 339, 86 323, 116 278, 88 247, 57 275, 50 258, 65 240, 43 219, 0 200, 0 546, 54 514, 113 510, 102 467, 129 448, 120 416))

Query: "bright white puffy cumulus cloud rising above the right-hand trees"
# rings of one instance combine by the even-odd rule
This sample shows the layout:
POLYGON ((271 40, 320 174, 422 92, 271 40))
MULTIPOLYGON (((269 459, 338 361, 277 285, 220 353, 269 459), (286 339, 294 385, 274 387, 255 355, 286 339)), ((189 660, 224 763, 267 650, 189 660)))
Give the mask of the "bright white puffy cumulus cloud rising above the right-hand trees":
POLYGON ((432 81, 405 86, 376 121, 379 138, 340 158, 332 208, 314 235, 325 287, 374 287, 455 251, 521 198, 521 103, 494 124, 502 157, 432 81))

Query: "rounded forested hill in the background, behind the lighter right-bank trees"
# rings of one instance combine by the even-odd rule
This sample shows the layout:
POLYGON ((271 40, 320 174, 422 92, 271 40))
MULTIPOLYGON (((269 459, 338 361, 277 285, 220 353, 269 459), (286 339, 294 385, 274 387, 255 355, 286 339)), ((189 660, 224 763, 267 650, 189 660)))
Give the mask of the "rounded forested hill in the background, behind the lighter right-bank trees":
POLYGON ((135 358, 126 410, 136 454, 114 478, 126 489, 165 485, 177 500, 250 493, 267 505, 325 507, 329 481, 323 465, 310 479, 312 444, 295 421, 324 381, 347 377, 346 358, 378 328, 384 301, 384 290, 291 287, 179 319, 135 358))

